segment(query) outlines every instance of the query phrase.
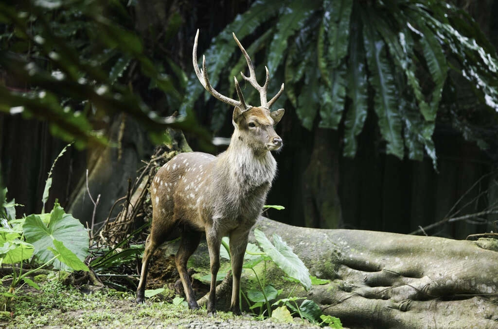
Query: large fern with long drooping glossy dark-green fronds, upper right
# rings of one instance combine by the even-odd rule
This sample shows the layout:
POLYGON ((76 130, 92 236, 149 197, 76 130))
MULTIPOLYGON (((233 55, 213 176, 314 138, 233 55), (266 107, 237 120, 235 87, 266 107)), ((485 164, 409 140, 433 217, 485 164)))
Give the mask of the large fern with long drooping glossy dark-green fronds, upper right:
MULTIPOLYGON (((286 0, 275 6, 275 2, 254 2, 213 39, 205 53, 212 63, 208 65, 212 84, 227 77, 233 80, 244 65, 231 32, 242 40, 253 31, 264 31, 252 36, 252 44, 243 41, 249 54, 257 57, 254 53, 264 50, 258 63, 267 63, 273 80, 284 77, 285 94, 305 128, 343 131, 345 156, 355 156, 356 138, 367 115, 374 113, 387 154, 421 160, 425 149, 436 166, 432 135, 438 113, 448 111, 447 103, 442 103, 444 90, 460 86, 462 79, 475 86, 476 99, 486 104, 480 107, 485 116, 496 116, 496 52, 472 18, 452 4, 286 0), (229 72, 234 52, 240 59, 237 70, 229 72)), ((270 83, 268 94, 277 85, 270 83)), ((226 86, 218 87, 223 92, 226 86)), ((187 90, 184 110, 202 92, 194 76, 187 90)), ((233 84, 225 93, 233 94, 233 84)), ((464 137, 485 146, 479 134, 465 133, 469 130, 465 117, 449 113, 445 118, 464 137)))

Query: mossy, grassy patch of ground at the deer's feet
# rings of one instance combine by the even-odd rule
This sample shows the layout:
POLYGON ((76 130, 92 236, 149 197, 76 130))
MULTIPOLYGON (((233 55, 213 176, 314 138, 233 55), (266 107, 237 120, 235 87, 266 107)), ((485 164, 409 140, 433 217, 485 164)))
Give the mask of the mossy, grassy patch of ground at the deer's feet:
POLYGON ((136 305, 132 293, 76 289, 57 280, 40 283, 39 288, 24 285, 12 299, 2 296, 1 311, 7 312, 1 312, 0 328, 320 328, 225 312, 208 317, 206 310, 192 311, 153 298, 136 305))

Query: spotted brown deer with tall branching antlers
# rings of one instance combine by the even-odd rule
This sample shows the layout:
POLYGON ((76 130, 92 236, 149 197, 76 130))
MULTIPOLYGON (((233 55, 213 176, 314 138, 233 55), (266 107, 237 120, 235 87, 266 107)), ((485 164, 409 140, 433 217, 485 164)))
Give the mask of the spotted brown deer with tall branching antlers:
POLYGON ((154 250, 166 241, 174 228, 180 229, 180 247, 175 264, 180 275, 190 309, 198 309, 187 272, 187 261, 197 249, 204 233, 209 251, 211 284, 207 302, 208 315, 216 314, 216 275, 220 268, 220 246, 223 237, 230 238, 232 265, 232 299, 230 310, 241 315, 239 290, 248 244, 249 231, 261 215, 266 195, 276 173, 276 161, 271 151, 281 149, 282 139, 274 126, 280 121, 284 109, 270 111, 270 107, 282 94, 267 100, 269 82, 261 86, 255 77, 254 65, 240 41, 232 33, 235 42, 246 58, 249 77, 242 78, 259 92, 260 106, 246 103, 236 77, 235 88, 239 100, 224 96, 211 85, 206 70, 206 58, 202 58, 202 70, 197 61, 197 30, 192 63, 202 86, 218 100, 234 106, 232 124, 234 132, 225 152, 213 156, 201 152, 180 153, 157 170, 149 191, 152 202, 152 224, 145 241, 140 282, 136 302, 143 303, 147 270, 154 250))

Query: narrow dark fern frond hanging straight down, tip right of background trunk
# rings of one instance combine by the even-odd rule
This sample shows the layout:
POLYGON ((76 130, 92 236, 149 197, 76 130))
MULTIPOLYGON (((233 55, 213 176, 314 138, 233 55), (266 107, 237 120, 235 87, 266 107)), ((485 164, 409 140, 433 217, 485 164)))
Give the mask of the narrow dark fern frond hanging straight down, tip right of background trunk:
POLYGON ((343 154, 345 157, 355 156, 358 148, 356 137, 363 129, 368 113, 367 68, 362 42, 362 21, 359 15, 352 17, 350 29, 347 96, 351 99, 351 105, 346 111, 344 120, 343 154))

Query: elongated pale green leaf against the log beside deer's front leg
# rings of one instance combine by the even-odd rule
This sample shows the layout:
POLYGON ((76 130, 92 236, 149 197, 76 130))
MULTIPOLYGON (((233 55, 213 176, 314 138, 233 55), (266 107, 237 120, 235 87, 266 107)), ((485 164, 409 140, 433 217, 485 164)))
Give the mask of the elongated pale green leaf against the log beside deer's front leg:
POLYGON ((287 246, 277 234, 273 234, 273 244, 263 232, 254 229, 254 237, 264 252, 280 267, 289 277, 299 280, 306 289, 311 288, 311 279, 308 268, 301 259, 287 246))

